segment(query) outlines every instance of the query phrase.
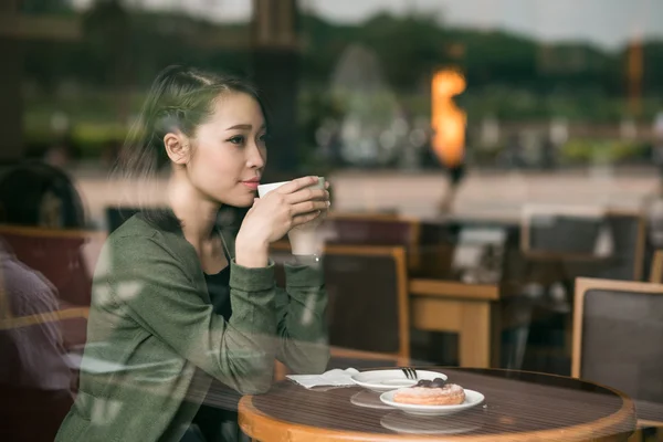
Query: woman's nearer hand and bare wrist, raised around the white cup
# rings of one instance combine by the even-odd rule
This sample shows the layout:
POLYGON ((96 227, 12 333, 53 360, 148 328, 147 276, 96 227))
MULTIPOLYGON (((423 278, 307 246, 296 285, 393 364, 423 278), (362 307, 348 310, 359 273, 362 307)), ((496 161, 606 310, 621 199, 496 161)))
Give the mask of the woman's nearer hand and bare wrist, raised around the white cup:
POLYGON ((298 178, 255 199, 235 241, 238 264, 264 267, 272 242, 327 211, 329 192, 326 189, 309 188, 317 182, 317 177, 298 178))

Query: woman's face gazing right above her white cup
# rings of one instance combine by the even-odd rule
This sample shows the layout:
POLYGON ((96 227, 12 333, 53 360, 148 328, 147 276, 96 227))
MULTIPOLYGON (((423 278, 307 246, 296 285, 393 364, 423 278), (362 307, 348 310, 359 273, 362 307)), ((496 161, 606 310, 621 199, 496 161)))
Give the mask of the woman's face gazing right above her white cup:
POLYGON ((267 156, 261 106, 248 94, 230 93, 213 109, 192 137, 189 180, 212 201, 250 207, 267 156))

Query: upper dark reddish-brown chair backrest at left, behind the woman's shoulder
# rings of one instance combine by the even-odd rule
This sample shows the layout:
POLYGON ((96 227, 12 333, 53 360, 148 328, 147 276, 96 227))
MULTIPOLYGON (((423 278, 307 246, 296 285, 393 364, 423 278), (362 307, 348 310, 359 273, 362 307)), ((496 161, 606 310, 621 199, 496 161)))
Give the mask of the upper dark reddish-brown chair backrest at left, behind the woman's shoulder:
POLYGON ((87 230, 53 230, 0 225, 0 238, 17 259, 40 272, 62 301, 88 307, 92 274, 106 234, 87 230))

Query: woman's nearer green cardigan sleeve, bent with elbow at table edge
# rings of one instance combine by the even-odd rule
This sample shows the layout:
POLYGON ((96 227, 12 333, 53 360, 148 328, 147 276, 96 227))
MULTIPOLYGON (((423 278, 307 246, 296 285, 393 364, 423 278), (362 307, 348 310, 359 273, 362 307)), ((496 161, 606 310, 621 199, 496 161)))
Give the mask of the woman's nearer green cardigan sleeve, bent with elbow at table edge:
POLYGON ((273 264, 245 269, 230 263, 233 314, 227 323, 204 301, 181 257, 158 239, 127 236, 116 245, 126 252, 113 260, 107 281, 135 322, 241 393, 270 388, 277 346, 273 264))

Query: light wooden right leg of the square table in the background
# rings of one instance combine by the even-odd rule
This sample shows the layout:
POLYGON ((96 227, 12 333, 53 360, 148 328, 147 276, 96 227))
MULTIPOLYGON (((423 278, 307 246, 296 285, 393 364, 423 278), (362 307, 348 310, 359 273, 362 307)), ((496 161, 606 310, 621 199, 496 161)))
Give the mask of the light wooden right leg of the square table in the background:
POLYGON ((462 307, 460 339, 461 367, 491 367, 491 303, 465 302, 462 307))

